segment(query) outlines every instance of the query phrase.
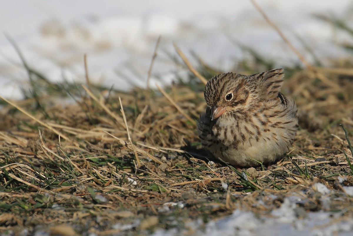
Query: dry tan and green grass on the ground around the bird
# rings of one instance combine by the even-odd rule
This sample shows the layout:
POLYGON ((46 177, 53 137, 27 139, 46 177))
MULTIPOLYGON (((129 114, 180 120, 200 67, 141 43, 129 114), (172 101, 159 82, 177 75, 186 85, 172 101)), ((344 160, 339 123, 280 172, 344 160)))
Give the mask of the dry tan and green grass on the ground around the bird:
MULTIPOLYGON (((239 62, 237 72, 271 69, 261 58, 254 61, 239 62)), ((26 99, 0 113, 0 230, 3 235, 23 229, 31 234, 38 227, 52 235, 63 229, 76 235, 187 230, 191 220, 207 223, 236 208, 265 214, 293 193, 310 200, 305 211, 352 217, 352 197, 342 190, 353 185, 352 58, 333 66, 316 67, 318 73, 285 68, 283 91, 297 102, 300 129, 289 154, 271 170, 239 171, 209 162, 195 122, 205 110, 199 78, 216 73, 209 65, 200 63, 200 74, 189 83, 129 92, 95 86, 89 78, 85 85, 52 84, 33 76, 26 99), (62 104, 68 96, 74 102, 62 104), (312 194, 316 183, 332 190, 329 206, 312 194), (267 204, 256 205, 259 201, 267 204)))

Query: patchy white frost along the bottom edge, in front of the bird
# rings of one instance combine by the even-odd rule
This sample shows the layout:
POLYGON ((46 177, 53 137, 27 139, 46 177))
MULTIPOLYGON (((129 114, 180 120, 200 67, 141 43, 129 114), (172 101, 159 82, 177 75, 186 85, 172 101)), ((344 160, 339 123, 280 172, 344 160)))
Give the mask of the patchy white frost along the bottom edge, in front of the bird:
MULTIPOLYGON (((280 208, 266 215, 235 210, 231 216, 202 224, 190 222, 187 230, 157 230, 152 236, 351 236, 353 219, 340 219, 342 213, 306 212, 298 206, 298 195, 286 197, 280 208)), ((302 203, 302 202, 301 202, 302 203)))

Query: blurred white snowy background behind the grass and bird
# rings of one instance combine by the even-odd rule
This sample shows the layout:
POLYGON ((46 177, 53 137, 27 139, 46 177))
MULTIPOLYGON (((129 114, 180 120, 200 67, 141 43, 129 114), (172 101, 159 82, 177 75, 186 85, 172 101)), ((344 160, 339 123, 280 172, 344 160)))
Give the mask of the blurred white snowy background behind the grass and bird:
MULTIPOLYGON (((23 98, 24 63, 51 82, 84 83, 84 54, 92 82, 145 87, 159 36, 152 86, 188 73, 175 63, 173 43, 191 63, 222 72, 257 57, 274 67, 303 66, 250 1, 0 2, 0 94, 10 99, 23 98)), ((257 2, 312 64, 331 65, 352 52, 352 1, 257 2)))

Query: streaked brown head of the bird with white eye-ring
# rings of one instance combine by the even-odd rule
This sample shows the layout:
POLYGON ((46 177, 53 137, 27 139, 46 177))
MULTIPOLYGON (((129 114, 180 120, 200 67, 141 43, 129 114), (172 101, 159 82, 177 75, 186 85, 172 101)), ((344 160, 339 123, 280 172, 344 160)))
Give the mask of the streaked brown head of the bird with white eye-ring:
POLYGON ((211 120, 240 111, 246 115, 261 106, 261 101, 277 97, 283 84, 282 71, 273 69, 250 76, 229 72, 212 77, 204 89, 211 120))

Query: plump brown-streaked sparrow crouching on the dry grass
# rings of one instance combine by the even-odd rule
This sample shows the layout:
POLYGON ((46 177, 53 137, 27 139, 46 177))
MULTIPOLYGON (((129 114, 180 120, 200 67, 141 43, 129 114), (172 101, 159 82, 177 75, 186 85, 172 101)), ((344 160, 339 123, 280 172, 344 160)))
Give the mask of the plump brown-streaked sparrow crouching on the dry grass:
POLYGON ((197 131, 211 156, 237 168, 270 169, 288 152, 298 110, 294 99, 280 92, 283 77, 283 69, 272 69, 250 76, 223 73, 207 82, 207 108, 197 131))

